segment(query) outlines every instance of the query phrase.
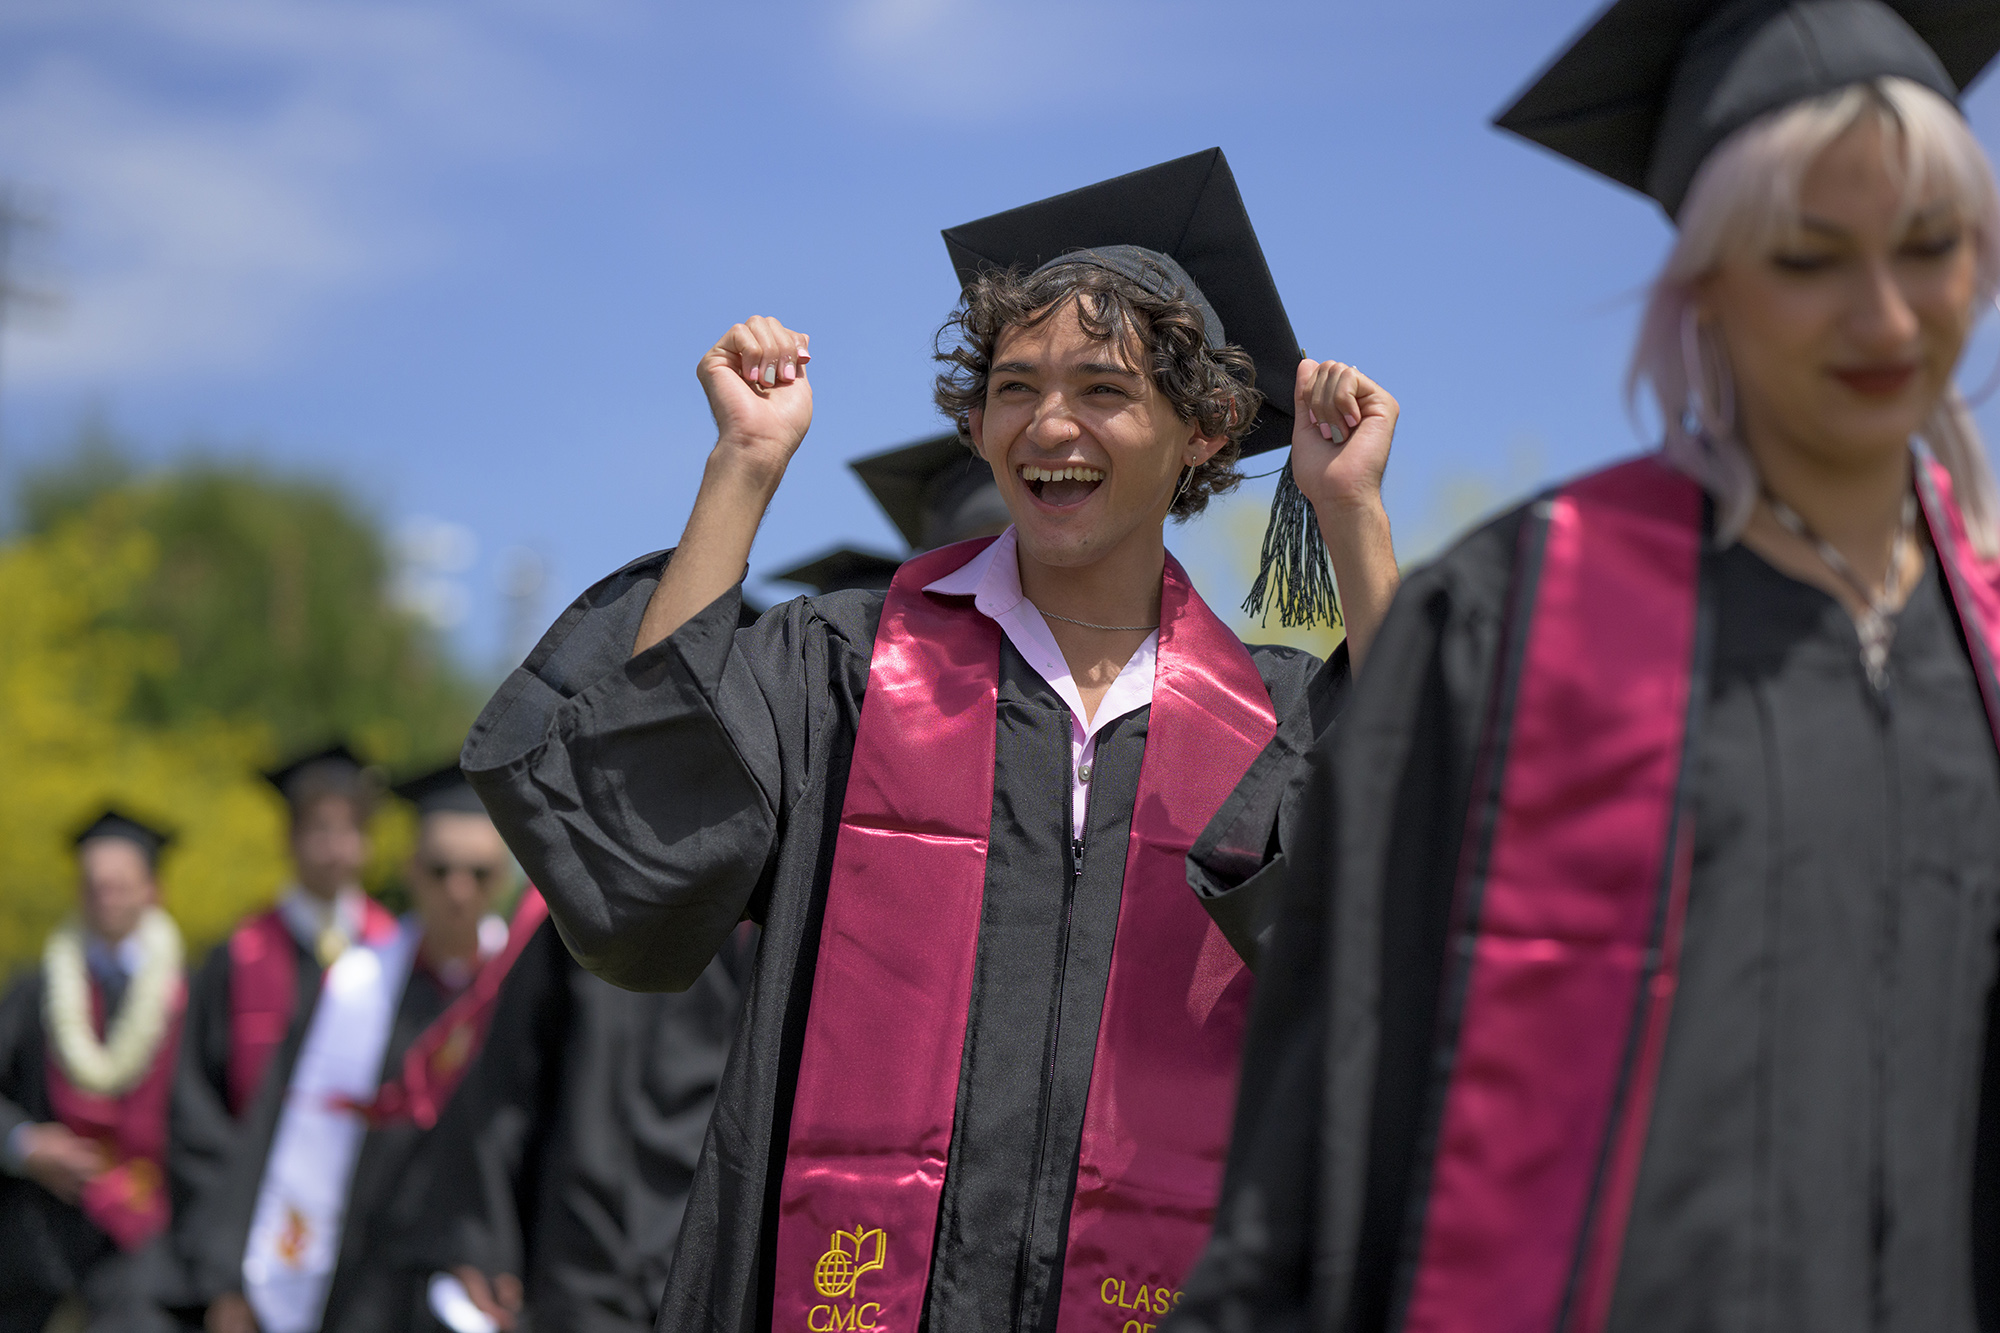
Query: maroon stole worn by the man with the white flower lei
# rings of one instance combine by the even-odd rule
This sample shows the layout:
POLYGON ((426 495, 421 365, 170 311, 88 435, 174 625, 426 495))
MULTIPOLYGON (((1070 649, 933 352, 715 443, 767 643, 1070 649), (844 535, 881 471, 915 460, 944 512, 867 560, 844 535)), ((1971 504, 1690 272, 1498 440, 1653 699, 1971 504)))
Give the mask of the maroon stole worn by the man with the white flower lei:
MULTIPOLYGON (((116 1097, 86 1093, 70 1083, 54 1049, 44 1061, 48 1109, 70 1133, 94 1139, 110 1157, 112 1165, 84 1185, 78 1207, 122 1251, 140 1249, 166 1231, 168 1223, 166 1105, 174 1091, 174 1055, 180 1051, 180 1021, 188 1007, 186 987, 176 985, 168 1003, 172 1009, 152 1063, 138 1083, 116 1097)), ((94 977, 90 1009, 102 1033, 104 989, 94 977)))

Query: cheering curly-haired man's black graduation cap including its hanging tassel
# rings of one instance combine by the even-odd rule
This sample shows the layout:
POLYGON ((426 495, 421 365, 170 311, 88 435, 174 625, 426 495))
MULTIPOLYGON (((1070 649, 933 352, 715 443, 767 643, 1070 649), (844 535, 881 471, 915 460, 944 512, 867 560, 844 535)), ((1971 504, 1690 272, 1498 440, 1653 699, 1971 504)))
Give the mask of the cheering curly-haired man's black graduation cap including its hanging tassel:
MULTIPOLYGON (((1154 296, 1190 302, 1202 312, 1208 346, 1236 344, 1256 364, 1264 404, 1242 454, 1292 442, 1298 334, 1220 148, 946 228, 944 248, 960 286, 988 268, 1034 272, 1086 262, 1154 296)), ((1258 614, 1268 606, 1276 606, 1284 624, 1338 622, 1340 614, 1318 520, 1290 466, 1272 498, 1262 564, 1244 610, 1258 614)))

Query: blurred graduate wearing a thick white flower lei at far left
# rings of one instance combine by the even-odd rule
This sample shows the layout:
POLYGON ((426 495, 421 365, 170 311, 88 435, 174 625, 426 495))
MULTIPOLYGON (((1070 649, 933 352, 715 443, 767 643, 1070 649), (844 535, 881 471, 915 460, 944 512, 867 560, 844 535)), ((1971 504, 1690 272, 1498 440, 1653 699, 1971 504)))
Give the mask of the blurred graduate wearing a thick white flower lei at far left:
POLYGON ((166 1099, 186 1007, 160 907, 168 835, 106 811, 76 837, 78 909, 0 999, 0 1329, 64 1301, 90 1333, 158 1333, 172 1281, 166 1099))

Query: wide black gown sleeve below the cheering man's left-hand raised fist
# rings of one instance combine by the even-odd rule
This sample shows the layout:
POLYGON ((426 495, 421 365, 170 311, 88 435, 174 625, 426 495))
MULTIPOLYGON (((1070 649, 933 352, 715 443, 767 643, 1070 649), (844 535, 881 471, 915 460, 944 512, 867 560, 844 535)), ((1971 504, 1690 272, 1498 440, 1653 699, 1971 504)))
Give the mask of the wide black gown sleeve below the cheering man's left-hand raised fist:
MULTIPOLYGON (((828 673, 872 644, 798 598, 738 632, 732 588, 632 656, 670 552, 584 592, 474 723, 464 769, 570 953, 630 991, 684 991, 762 921, 814 765, 828 673)), ((880 594, 872 614, 880 616, 880 594)))

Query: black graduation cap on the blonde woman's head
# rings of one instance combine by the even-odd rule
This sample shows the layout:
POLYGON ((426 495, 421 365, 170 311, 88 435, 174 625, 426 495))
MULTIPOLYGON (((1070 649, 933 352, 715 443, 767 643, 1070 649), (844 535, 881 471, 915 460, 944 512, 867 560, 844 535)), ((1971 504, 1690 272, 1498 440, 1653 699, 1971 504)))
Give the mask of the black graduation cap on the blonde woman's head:
POLYGON ((1996 50, 1992 0, 1616 0, 1494 124, 1674 216, 1758 116, 1884 76, 1956 100, 1996 50))

